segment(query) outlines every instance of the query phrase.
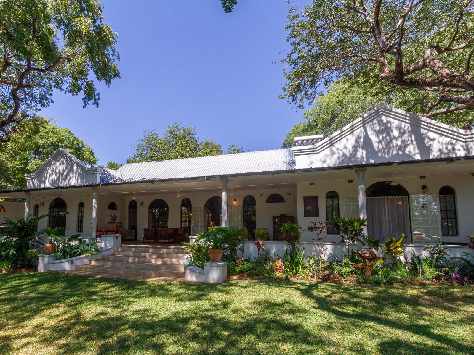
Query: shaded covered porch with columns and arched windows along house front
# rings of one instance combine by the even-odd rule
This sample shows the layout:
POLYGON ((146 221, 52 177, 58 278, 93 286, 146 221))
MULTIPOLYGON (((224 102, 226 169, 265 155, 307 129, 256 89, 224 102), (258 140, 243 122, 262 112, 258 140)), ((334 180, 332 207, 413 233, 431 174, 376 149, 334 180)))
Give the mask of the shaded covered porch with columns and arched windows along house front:
MULTIPOLYGON (((178 245, 214 224, 267 229, 270 240, 278 240, 282 222, 304 229, 333 216, 368 218, 367 234, 382 241, 404 233, 414 243, 463 244, 474 230, 470 160, 308 170, 10 191, 0 196, 25 202, 2 202, 0 217, 50 214, 38 230, 64 226, 66 236, 85 237, 121 222, 122 243, 141 246, 147 229, 187 232, 180 240, 146 245, 178 245)), ((304 231, 301 240, 312 238, 304 231)), ((328 229, 326 241, 339 240, 328 229)))

